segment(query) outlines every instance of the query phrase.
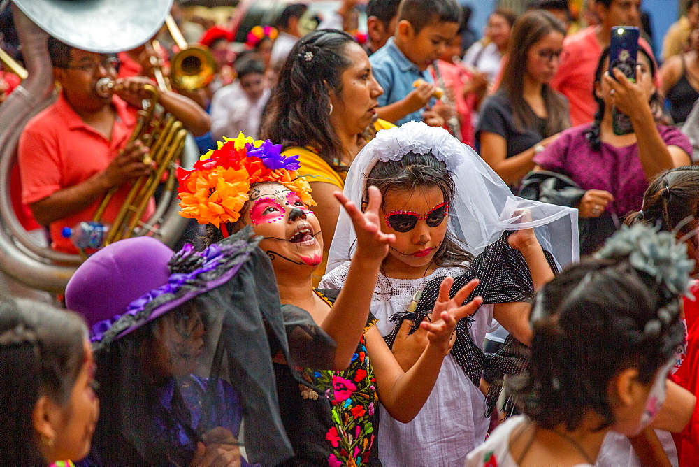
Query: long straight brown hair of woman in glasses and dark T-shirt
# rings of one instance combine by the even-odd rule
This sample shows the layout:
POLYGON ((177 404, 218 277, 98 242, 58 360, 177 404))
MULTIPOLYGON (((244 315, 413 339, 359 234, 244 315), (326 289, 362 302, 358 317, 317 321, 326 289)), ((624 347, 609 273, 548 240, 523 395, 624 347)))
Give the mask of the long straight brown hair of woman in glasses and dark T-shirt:
MULTIPOLYGON (((563 24, 544 10, 528 11, 514 22, 510 36, 510 59, 507 60, 503 71, 502 87, 507 93, 507 100, 510 101, 517 131, 524 132, 525 129, 536 126, 536 115, 524 100, 524 76, 529 50, 542 37, 554 31, 565 36, 563 24)), ((542 85, 541 96, 548 115, 543 136, 546 138, 570 127, 568 103, 565 98, 547 84, 542 85)))

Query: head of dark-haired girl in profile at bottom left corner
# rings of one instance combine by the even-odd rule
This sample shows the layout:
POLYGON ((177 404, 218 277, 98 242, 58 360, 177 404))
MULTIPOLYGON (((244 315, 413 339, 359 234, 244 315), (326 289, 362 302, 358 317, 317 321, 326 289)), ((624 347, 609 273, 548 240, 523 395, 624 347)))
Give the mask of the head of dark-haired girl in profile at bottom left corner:
POLYGON ((45 303, 0 299, 0 452, 9 466, 79 461, 99 415, 87 326, 45 303))

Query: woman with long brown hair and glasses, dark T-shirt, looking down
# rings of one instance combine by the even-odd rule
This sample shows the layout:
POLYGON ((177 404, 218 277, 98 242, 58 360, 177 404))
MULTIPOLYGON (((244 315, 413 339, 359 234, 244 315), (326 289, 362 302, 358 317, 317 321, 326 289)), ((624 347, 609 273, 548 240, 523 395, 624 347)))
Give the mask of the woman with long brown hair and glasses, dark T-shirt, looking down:
POLYGON ((500 89, 480 111, 480 155, 507 185, 534 168, 533 157, 570 127, 568 102, 549 82, 563 51, 565 27, 551 13, 532 10, 514 23, 500 89))

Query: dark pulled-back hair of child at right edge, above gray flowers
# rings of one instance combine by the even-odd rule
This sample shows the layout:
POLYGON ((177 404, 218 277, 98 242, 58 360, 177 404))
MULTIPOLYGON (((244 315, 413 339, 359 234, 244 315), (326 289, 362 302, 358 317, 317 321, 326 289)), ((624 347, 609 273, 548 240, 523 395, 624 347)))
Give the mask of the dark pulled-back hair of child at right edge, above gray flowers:
POLYGON ((682 166, 659 173, 643 194, 640 211, 629 213, 624 224, 646 222, 680 235, 696 228, 699 211, 699 166, 682 166), (691 222, 683 222, 691 219, 691 222))

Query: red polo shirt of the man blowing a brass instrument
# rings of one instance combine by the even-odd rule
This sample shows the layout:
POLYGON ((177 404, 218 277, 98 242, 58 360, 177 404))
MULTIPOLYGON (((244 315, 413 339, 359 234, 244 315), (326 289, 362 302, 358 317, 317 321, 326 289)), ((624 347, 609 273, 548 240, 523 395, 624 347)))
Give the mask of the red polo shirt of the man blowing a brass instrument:
MULTIPOLYGON (((29 120, 20 137, 19 159, 22 175, 22 202, 36 203, 60 189, 84 182, 110 164, 124 148, 136 127, 137 109, 128 106, 117 96, 112 105, 117 117, 108 140, 99 131, 83 122, 60 94, 57 101, 29 120)), ((122 186, 113 196, 105 213, 106 222, 112 222, 119 212, 131 185, 122 186)), ((89 208, 50 224, 52 248, 66 253, 77 253, 71 240, 61 236, 63 227, 92 220, 101 199, 89 208)), ((143 215, 154 213, 151 199, 143 215)))

